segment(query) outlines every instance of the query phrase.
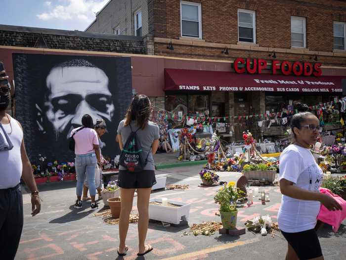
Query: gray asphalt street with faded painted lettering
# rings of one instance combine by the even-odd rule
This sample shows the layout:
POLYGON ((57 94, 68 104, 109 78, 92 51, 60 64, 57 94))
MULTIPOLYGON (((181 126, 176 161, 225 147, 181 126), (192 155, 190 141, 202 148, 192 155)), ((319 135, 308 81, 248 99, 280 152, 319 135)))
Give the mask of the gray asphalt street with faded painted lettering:
MULTIPOLYGON (((232 237, 183 235, 193 223, 203 221, 220 221, 214 195, 219 186, 202 187, 198 176, 201 166, 176 167, 157 170, 157 175, 167 176, 167 184, 189 184, 187 190, 159 190, 153 192, 151 198, 166 197, 169 200, 191 203, 188 222, 164 227, 161 222, 151 220, 147 235, 147 243, 154 250, 137 257, 138 238, 137 225, 130 224, 127 245, 129 252, 125 260, 280 260, 285 259, 286 241, 278 236, 265 237, 260 234, 246 234, 232 237)), ((241 173, 220 172, 220 180, 237 181, 241 173)), ((24 228, 16 260, 103 260, 122 259, 117 256, 118 226, 107 225, 99 217, 94 217, 90 203, 84 203, 83 209, 73 208, 75 203, 76 182, 60 182, 42 184, 42 211, 39 215, 30 215, 30 195, 24 199, 24 228)), ((24 188, 25 189, 25 188, 24 188)), ((264 186, 269 192, 270 202, 262 205, 258 198, 255 204, 247 207, 239 205, 237 225, 244 227, 244 222, 258 215, 268 214, 276 222, 280 207, 281 194, 279 187, 264 186)), ((136 211, 136 198, 133 212, 136 211)), ((103 202, 99 201, 102 210, 103 202)), ((319 231, 320 243, 326 260, 346 259, 346 221, 340 226, 338 233, 331 226, 325 225, 319 231)))

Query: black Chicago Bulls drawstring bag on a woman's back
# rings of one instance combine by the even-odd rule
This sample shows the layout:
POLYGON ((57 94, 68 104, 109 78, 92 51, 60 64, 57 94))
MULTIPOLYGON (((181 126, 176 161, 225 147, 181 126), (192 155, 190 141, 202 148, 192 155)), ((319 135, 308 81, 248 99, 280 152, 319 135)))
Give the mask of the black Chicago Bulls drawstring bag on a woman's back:
POLYGON ((144 160, 142 155, 143 150, 136 134, 139 128, 133 132, 132 127, 130 126, 130 136, 128 140, 126 140, 123 151, 120 154, 119 164, 130 172, 140 172, 148 163, 150 150, 146 159, 144 160))

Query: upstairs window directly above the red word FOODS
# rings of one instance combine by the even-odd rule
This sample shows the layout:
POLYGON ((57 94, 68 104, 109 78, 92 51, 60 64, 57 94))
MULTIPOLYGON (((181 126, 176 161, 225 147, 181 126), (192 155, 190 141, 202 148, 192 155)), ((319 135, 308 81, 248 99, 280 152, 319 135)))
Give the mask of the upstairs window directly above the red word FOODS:
POLYGON ((291 16, 291 47, 306 48, 306 20, 291 16))

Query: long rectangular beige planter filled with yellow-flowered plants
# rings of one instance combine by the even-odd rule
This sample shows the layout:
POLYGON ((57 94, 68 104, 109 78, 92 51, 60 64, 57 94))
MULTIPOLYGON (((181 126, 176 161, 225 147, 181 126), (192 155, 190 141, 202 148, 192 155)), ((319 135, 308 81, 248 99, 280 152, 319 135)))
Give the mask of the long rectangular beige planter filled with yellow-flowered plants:
POLYGON ((246 164, 243 167, 243 174, 248 179, 273 182, 276 176, 277 165, 272 162, 259 164, 246 164))

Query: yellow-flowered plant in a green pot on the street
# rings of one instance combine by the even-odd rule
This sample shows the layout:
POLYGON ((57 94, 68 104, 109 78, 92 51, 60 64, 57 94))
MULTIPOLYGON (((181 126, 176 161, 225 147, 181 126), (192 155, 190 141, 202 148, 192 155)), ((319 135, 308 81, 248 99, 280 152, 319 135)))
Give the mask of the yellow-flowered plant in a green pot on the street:
POLYGON ((243 192, 235 187, 235 182, 229 182, 223 185, 214 197, 215 203, 219 205, 221 222, 225 229, 232 229, 237 225, 236 204, 241 193, 243 192))

